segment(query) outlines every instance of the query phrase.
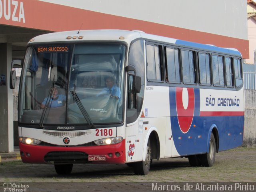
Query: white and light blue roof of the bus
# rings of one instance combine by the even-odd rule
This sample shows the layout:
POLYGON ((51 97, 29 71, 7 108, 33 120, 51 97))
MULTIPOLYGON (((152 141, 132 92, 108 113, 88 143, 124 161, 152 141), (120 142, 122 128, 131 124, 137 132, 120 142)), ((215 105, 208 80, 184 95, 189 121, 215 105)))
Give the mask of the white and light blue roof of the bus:
POLYGON ((42 42, 80 42, 80 41, 124 41, 128 44, 137 38, 144 38, 146 40, 158 41, 166 44, 176 44, 177 46, 195 48, 197 50, 210 51, 223 53, 234 56, 241 56, 241 53, 234 48, 221 48, 214 45, 200 44, 195 42, 189 42, 184 40, 178 40, 174 38, 168 38, 163 36, 157 36, 152 34, 146 34, 139 30, 78 30, 54 32, 49 34, 43 34, 36 36, 30 43, 42 43, 42 42), (81 38, 78 38, 81 36, 81 38), (68 39, 70 37, 70 39, 68 39))

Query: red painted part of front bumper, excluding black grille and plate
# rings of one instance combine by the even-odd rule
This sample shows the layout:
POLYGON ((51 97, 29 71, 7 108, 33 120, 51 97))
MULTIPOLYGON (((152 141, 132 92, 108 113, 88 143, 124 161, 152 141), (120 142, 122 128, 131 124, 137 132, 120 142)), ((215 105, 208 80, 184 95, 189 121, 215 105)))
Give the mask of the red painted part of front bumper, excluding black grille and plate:
MULTIPOLYGON (((123 164, 126 162, 125 140, 118 144, 104 146, 83 146, 83 147, 52 147, 33 146, 20 142, 21 159, 24 163, 45 164, 44 156, 49 152, 84 152, 88 155, 106 155, 106 161, 93 161, 92 163, 103 164, 123 164), (119 153, 119 156, 116 154, 119 153), (109 155, 109 154, 112 154, 109 155)), ((90 161, 89 161, 90 162, 90 161)))

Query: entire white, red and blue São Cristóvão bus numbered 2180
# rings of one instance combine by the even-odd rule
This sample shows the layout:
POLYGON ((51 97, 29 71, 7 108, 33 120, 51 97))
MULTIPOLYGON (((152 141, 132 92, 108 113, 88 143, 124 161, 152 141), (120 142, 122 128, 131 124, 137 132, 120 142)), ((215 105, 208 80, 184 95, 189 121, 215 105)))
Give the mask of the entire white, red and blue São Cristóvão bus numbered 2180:
POLYGON ((212 166, 216 153, 242 145, 234 48, 139 30, 55 32, 31 39, 17 65, 24 163, 53 164, 57 174, 73 164, 127 164, 146 175, 152 160, 212 166))

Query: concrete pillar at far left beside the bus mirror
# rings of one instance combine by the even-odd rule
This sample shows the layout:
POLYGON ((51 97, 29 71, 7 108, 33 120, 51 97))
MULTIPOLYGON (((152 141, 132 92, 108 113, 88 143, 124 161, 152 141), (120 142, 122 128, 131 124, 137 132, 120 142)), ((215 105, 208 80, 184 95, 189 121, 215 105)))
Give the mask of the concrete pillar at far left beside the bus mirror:
POLYGON ((0 152, 13 152, 13 103, 9 88, 12 44, 0 43, 0 76, 5 85, 0 86, 0 152))

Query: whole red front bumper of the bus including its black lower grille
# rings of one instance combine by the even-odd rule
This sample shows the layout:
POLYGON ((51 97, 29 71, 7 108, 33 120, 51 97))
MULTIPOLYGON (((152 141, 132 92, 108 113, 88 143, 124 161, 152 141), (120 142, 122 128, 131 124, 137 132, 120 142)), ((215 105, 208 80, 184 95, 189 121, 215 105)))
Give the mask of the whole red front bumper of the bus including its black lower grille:
POLYGON ((38 146, 20 142, 20 156, 24 163, 38 164, 124 164, 125 140, 104 146, 38 146), (105 155, 106 161, 89 161, 88 155, 105 155))

